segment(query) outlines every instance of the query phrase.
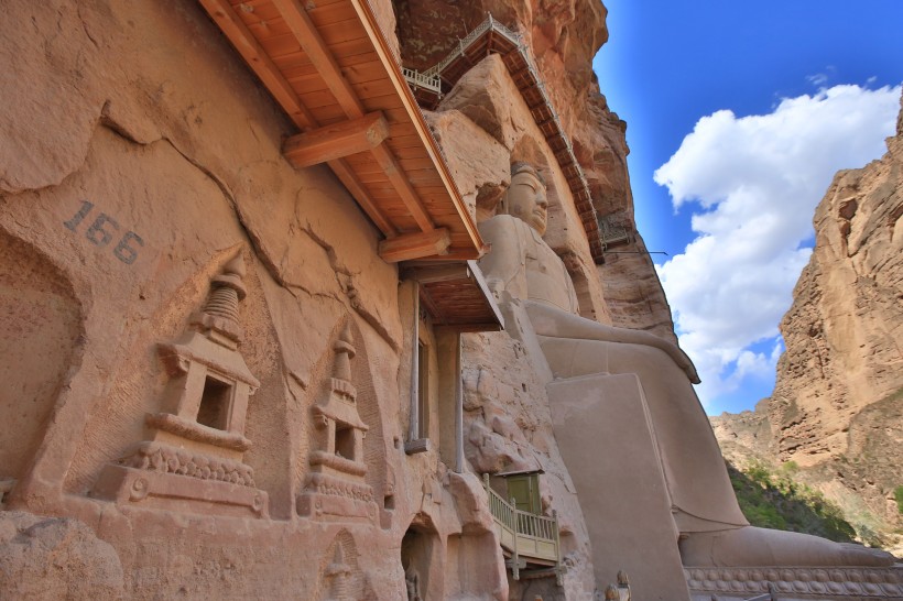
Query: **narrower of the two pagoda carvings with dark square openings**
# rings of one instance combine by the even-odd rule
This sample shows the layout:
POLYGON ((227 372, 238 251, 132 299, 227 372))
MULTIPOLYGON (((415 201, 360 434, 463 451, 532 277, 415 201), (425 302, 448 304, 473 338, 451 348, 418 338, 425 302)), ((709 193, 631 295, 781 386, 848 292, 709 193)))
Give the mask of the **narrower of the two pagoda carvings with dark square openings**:
POLYGON ((312 407, 315 427, 311 473, 297 499, 297 513, 333 521, 376 521, 373 489, 367 483, 363 438, 369 427, 358 412, 351 383, 357 353, 350 321, 333 346, 333 373, 323 398, 312 407))

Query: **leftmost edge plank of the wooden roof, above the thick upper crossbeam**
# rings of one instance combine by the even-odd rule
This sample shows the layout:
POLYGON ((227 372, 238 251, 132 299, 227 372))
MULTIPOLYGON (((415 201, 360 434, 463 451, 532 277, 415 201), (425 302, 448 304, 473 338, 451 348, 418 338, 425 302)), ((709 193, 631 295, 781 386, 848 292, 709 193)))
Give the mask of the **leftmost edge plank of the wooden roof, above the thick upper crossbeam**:
POLYGON ((311 111, 301 103, 292 86, 236 15, 227 0, 200 0, 200 3, 295 124, 301 129, 316 127, 316 120, 311 111))

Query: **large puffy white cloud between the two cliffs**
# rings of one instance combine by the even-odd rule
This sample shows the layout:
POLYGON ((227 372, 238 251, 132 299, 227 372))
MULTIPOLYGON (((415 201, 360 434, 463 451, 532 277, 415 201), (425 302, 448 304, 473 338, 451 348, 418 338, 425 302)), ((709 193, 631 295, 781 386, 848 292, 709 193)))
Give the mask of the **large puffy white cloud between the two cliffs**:
POLYGON ((681 345, 708 406, 748 378, 773 375, 793 286, 810 251, 815 207, 834 174, 884 152, 901 88, 835 86, 783 99, 769 114, 721 110, 699 119, 656 172, 675 211, 693 208, 696 239, 659 267, 681 345), (780 338, 777 338, 780 340, 780 338))

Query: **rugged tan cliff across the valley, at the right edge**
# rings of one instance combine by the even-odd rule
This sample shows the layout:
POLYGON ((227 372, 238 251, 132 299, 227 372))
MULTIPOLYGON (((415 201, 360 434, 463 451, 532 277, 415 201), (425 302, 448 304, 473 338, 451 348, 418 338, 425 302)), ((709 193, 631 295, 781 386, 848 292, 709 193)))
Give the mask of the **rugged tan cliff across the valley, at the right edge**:
POLYGON ((829 496, 884 526, 900 523, 889 493, 903 484, 901 217, 903 112, 888 153, 838 173, 816 209, 771 398, 752 415, 712 419, 722 444, 795 461, 829 496))

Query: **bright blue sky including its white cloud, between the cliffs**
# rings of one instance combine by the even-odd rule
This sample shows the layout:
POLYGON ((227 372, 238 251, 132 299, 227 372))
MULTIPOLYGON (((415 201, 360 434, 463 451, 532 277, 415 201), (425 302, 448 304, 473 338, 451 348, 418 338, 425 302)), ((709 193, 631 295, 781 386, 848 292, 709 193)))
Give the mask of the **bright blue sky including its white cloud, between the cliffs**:
POLYGON ((594 67, 628 122, 638 227, 670 255, 653 258, 697 391, 710 414, 752 408, 816 204, 893 132, 903 1, 603 2, 594 67))

